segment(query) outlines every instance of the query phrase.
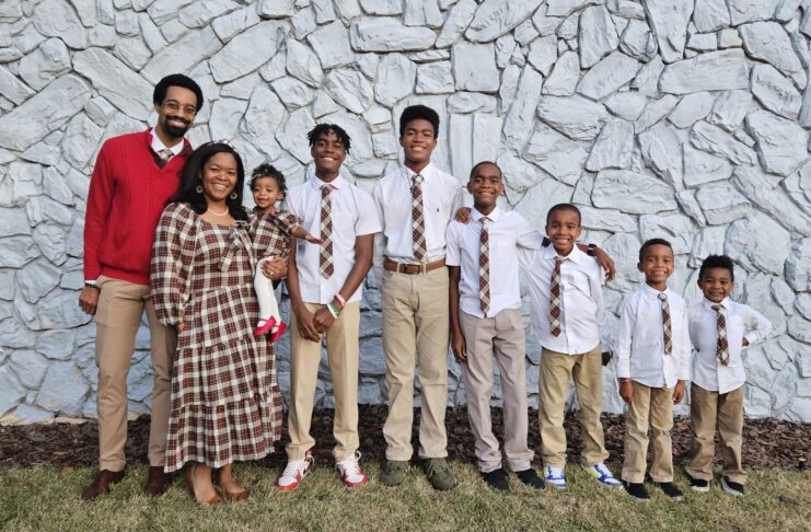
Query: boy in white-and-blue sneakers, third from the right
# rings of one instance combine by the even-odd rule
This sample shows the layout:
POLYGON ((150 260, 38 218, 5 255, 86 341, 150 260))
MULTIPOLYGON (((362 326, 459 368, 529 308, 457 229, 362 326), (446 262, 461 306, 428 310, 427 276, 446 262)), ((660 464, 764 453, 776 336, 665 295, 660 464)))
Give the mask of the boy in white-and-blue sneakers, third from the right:
POLYGON ((532 326, 543 346, 538 417, 544 479, 559 489, 568 487, 564 473, 564 410, 572 378, 583 433, 582 467, 604 486, 622 486, 603 463, 609 452, 600 423, 602 351, 610 350, 610 338, 603 312, 602 271, 598 262, 576 245, 581 231, 577 207, 554 206, 546 215, 546 234, 553 245, 532 252, 529 264, 524 263, 532 326))

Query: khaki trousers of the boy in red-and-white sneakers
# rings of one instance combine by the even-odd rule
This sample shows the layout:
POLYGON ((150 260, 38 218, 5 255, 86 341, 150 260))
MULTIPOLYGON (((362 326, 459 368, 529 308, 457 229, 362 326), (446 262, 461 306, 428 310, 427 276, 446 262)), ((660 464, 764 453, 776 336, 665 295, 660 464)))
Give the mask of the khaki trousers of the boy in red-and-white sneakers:
MULTIPOLYGON (((322 305, 304 303, 310 312, 322 305)), ((290 412, 287 444, 288 460, 304 460, 306 451, 315 440, 310 436, 313 419, 313 400, 318 381, 322 342, 312 342, 301 336, 296 315, 291 313, 290 325, 290 412)), ((326 354, 329 375, 335 396, 333 436, 337 442, 333 449, 336 462, 355 455, 360 447, 358 439, 358 338, 360 335, 360 303, 347 303, 332 326, 326 329, 326 354)))

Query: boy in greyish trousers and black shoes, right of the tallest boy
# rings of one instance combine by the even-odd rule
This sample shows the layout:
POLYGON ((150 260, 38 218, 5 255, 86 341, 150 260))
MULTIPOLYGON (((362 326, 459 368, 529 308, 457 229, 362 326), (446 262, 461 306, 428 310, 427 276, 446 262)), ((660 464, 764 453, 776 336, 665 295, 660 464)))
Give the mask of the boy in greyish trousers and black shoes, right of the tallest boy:
POLYGON ((448 225, 451 347, 462 367, 482 477, 494 489, 510 488, 490 419, 495 355, 501 370, 507 462, 523 484, 544 489, 530 466, 534 453, 526 446, 526 349, 518 275, 518 248, 536 250, 541 234, 518 212, 497 207, 503 189, 496 163, 476 164, 467 183, 471 221, 448 225))

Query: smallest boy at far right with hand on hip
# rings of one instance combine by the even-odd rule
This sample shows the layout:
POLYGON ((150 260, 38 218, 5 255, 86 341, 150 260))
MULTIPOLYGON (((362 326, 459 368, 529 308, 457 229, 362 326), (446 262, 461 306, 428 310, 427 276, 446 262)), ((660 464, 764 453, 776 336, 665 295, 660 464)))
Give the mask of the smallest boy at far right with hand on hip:
POLYGON ((685 470, 692 489, 709 490, 717 424, 723 462, 721 487, 730 495, 741 496, 746 483, 741 465, 746 381, 742 350, 768 336, 772 324, 751 307, 729 299, 734 271, 728 256, 710 255, 704 259, 698 287, 704 300, 690 309, 690 337, 695 348, 690 389, 693 441, 685 470))

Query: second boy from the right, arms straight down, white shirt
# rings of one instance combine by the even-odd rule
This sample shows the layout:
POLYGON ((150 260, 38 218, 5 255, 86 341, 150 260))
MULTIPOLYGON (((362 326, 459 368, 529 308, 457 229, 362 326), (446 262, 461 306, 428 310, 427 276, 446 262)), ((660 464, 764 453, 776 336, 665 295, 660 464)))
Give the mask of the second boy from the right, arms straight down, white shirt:
POLYGON ((690 335, 684 299, 668 288, 673 274, 673 248, 667 240, 651 239, 639 250, 645 285, 623 301, 616 338, 619 395, 628 404, 625 421, 625 489, 648 500, 645 470, 648 429, 653 440, 650 477, 664 495, 682 500, 673 484, 673 403, 684 396, 690 377, 690 335))

